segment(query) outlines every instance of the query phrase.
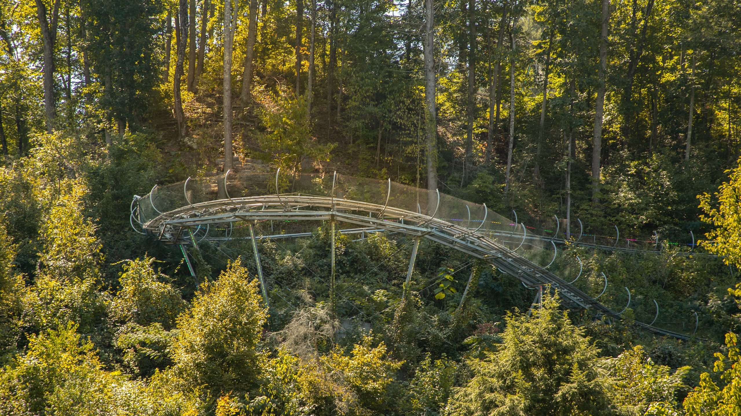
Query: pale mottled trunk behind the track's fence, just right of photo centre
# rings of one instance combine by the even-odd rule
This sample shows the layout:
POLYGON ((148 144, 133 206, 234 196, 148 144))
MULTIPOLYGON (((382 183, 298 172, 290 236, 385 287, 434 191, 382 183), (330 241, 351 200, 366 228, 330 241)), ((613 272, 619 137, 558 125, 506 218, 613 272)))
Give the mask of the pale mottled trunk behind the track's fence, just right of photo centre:
POLYGON ((427 189, 428 213, 432 215, 437 206, 437 123, 435 102, 435 20, 433 0, 425 0, 425 141, 427 142, 427 189))

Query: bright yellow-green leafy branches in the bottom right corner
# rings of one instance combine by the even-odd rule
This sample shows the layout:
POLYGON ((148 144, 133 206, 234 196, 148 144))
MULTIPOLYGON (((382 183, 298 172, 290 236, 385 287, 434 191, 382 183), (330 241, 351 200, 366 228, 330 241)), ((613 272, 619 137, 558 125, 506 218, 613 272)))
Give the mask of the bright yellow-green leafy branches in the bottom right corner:
POLYGON ((720 352, 715 356, 713 371, 720 374, 722 388, 715 383, 708 373, 700 375, 700 386, 694 388, 685 398, 685 411, 688 416, 731 416, 741 412, 741 355, 736 345, 737 337, 733 332, 725 335, 728 346, 728 358, 720 352))

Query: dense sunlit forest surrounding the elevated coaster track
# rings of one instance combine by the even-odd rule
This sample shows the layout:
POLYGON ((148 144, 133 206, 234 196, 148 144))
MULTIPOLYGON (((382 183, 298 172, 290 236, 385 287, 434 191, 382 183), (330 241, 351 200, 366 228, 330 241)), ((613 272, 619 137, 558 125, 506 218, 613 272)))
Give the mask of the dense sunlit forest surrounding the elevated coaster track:
POLYGON ((740 29, 733 0, 1 1, 0 415, 740 415, 740 29), (247 239, 132 228, 156 184, 278 169, 656 250, 562 247, 630 287, 616 321, 432 241, 404 286, 393 233, 332 271, 327 224, 257 224, 312 233, 259 241, 261 288, 247 239))

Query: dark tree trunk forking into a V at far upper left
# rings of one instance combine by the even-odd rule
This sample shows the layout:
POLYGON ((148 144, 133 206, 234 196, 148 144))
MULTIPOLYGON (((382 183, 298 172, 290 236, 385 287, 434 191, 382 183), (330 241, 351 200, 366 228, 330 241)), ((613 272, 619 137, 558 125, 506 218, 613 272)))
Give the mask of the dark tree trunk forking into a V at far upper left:
POLYGON ((36 17, 41 27, 41 38, 44 43, 44 115, 47 132, 54 130, 56 118, 56 101, 54 99, 54 48, 56 47, 56 27, 59 18, 59 0, 54 1, 51 26, 47 20, 47 9, 44 1, 36 0, 36 17))

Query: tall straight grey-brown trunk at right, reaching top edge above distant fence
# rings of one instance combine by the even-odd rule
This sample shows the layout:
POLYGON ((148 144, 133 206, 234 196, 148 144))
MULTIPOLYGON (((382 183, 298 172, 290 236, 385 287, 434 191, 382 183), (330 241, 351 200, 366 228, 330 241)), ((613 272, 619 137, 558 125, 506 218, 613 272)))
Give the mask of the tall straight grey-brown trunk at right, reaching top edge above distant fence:
POLYGON ((610 28, 610 0, 602 0, 602 33, 599 36, 599 79, 594 105, 594 143, 592 145, 592 203, 599 202, 599 170, 602 158, 602 116, 605 110, 605 74, 607 72, 607 39, 610 28))

